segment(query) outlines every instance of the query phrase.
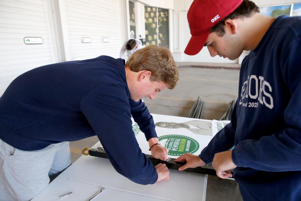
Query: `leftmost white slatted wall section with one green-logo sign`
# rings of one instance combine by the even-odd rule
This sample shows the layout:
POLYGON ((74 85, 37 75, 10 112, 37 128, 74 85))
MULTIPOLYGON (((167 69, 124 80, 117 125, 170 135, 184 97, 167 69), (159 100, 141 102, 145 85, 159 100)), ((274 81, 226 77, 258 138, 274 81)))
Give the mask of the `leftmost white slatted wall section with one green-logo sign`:
POLYGON ((18 75, 53 63, 50 27, 44 0, 0 1, 0 96, 18 75), (26 45, 24 37, 42 37, 26 45))

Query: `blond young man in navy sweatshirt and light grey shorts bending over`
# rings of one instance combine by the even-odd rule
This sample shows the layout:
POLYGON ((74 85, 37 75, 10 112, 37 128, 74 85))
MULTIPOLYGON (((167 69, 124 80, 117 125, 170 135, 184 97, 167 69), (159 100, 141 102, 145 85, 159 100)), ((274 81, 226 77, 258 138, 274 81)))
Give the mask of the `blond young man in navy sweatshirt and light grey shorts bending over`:
MULTIPOLYGON (((100 56, 34 68, 0 98, 0 200, 30 200, 70 164, 69 142, 97 135, 115 170, 133 182, 169 179, 141 153, 131 115, 150 147, 158 143, 142 97, 154 99, 179 79, 167 48, 148 46, 123 59, 100 56)), ((151 148, 166 160, 168 150, 151 148)))

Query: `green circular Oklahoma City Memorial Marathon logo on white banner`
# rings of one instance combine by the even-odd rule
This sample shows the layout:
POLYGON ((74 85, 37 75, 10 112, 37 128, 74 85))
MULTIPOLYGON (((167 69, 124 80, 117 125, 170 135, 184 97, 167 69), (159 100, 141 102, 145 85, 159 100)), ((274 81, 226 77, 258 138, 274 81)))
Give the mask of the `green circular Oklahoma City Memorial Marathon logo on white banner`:
POLYGON ((158 137, 161 146, 168 149, 168 155, 180 156, 185 153, 193 154, 200 145, 195 139, 184 135, 163 135, 158 137))

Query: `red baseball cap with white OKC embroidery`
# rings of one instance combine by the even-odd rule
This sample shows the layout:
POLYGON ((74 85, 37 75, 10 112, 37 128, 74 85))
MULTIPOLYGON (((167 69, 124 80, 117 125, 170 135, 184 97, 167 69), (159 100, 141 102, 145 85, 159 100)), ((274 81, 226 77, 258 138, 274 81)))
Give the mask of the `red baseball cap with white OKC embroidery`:
POLYGON ((192 35, 185 54, 196 55, 205 45, 210 29, 231 14, 243 0, 194 0, 187 19, 192 35))

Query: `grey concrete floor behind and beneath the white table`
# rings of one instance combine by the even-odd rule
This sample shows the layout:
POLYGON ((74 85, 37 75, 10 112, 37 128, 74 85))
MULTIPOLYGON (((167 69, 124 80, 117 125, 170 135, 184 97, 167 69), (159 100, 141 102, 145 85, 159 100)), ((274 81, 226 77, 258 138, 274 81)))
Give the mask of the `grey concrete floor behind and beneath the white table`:
MULTIPOLYGON (((237 98, 239 70, 191 68, 195 64, 179 63, 180 80, 175 89, 161 91, 154 100, 145 99, 150 113, 184 117, 198 96, 204 101, 203 119, 220 119, 229 102, 237 98), (182 67, 181 67, 182 66, 182 67)), ((220 65, 220 64, 219 64, 220 65)), ((214 66, 214 65, 211 65, 214 66)), ((229 65, 228 65, 229 67, 229 65)), ((91 147, 98 141, 96 136, 70 142, 71 160, 82 154, 83 147, 91 147)), ((236 182, 208 176, 207 201, 234 200, 236 182)))

